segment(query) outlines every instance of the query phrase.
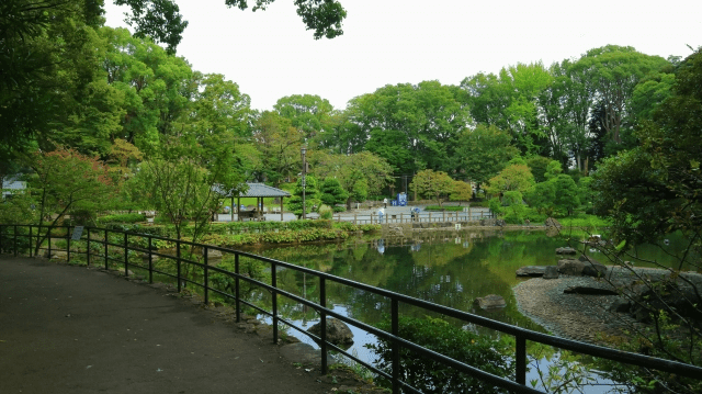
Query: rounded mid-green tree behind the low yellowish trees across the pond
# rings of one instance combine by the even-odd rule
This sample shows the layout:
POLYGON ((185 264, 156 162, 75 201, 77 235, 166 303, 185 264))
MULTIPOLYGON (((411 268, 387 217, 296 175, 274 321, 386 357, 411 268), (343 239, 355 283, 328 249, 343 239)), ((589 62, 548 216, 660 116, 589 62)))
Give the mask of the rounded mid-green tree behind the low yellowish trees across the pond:
POLYGON ((509 134, 495 126, 478 124, 475 130, 466 128, 457 137, 452 167, 456 173, 475 182, 479 190, 518 155, 510 140, 509 134))

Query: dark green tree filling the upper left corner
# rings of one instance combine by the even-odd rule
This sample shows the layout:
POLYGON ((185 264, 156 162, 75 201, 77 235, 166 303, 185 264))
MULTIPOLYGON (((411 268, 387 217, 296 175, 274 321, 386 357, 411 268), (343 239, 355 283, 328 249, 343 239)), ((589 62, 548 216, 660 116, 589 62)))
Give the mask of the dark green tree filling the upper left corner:
POLYGON ((92 80, 93 27, 101 9, 91 4, 0 3, 0 160, 33 151, 37 139, 46 140, 54 123, 65 119, 78 92, 92 80))

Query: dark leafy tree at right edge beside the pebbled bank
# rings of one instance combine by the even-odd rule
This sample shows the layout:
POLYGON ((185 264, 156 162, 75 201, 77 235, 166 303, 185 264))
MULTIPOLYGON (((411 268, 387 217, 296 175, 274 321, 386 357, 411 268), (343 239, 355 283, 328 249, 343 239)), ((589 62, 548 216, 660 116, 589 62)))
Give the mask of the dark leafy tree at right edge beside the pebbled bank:
MULTIPOLYGON (((650 327, 633 331, 621 346, 699 365, 702 290, 680 273, 686 266, 702 268, 702 48, 684 59, 675 75, 671 97, 653 111, 653 122, 636 131, 639 145, 605 159, 592 175, 592 185, 596 212, 612 222, 616 247, 604 250, 612 262, 630 267, 624 260, 641 259, 632 248, 643 243, 665 248, 661 239, 671 233, 679 232, 687 244, 676 256, 678 267, 658 266, 669 273, 664 280, 652 282, 633 272, 645 292, 631 301, 650 327)), ((699 382, 667 373, 612 367, 616 378, 627 376, 636 389, 686 393, 701 389, 699 382)))

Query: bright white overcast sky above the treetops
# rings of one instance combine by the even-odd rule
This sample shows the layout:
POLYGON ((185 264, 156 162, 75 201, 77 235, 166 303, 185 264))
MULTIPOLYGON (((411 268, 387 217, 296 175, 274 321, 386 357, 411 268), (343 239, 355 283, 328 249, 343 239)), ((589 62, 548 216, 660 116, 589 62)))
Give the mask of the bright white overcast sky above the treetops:
MULTIPOLYGON (((702 1, 340 1, 344 34, 315 41, 293 0, 257 12, 224 0, 177 0, 190 22, 178 56, 237 82, 258 110, 291 94, 318 94, 342 110, 385 85, 458 85, 479 71, 548 66, 607 44, 666 58, 702 45, 702 1)), ((124 9, 105 2, 106 25, 125 26, 124 9)))

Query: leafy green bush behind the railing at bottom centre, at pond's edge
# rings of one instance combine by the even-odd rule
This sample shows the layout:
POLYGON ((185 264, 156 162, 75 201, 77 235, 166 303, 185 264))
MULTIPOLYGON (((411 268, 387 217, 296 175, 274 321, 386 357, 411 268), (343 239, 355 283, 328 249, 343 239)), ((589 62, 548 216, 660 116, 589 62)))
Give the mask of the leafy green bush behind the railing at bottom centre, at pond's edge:
MULTIPOLYGON (((378 324, 378 328, 389 331, 390 323, 384 320, 378 324)), ((398 336, 491 374, 508 379, 514 375, 514 365, 511 357, 508 356, 512 351, 511 346, 452 326, 444 320, 403 316, 398 322, 398 336)), ((377 356, 375 362, 378 369, 392 374, 390 342, 380 338, 377 345, 366 345, 366 347, 377 356)), ((501 392, 466 373, 460 373, 407 348, 400 349, 399 368, 400 379, 424 393, 501 392)), ((385 379, 378 379, 377 382, 388 385, 385 379)))

